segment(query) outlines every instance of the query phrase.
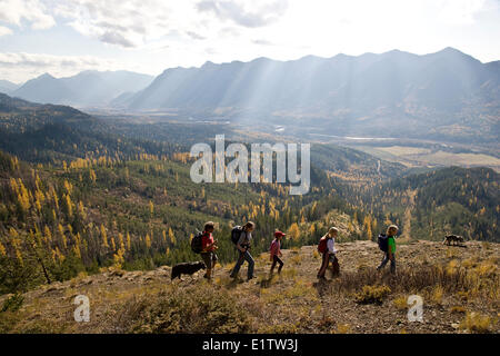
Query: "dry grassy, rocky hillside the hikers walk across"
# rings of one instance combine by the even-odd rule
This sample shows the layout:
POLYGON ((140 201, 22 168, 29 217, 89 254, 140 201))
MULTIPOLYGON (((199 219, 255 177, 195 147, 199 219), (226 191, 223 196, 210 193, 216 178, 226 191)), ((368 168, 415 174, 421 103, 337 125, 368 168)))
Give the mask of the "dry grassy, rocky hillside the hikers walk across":
MULTIPOLYGON (((134 323, 141 325, 139 330, 142 332, 171 330, 143 328, 147 323, 141 320, 143 314, 131 316, 133 306, 154 305, 160 295, 190 298, 193 290, 207 289, 236 300, 237 308, 247 316, 243 329, 248 333, 500 332, 498 244, 470 241, 466 247, 422 240, 399 244, 396 277, 388 270, 374 270, 382 256, 372 241, 337 244, 337 248, 341 274, 322 281, 316 278, 321 261, 313 246, 283 250, 283 271, 272 278, 269 277, 269 255, 254 256, 257 278, 248 283, 244 278, 236 281, 229 278, 233 264, 218 266, 211 283, 202 278, 201 271, 172 283, 167 266, 150 271, 107 270, 80 276, 26 293, 19 310, 0 313, 0 330, 137 332, 137 328, 129 328, 133 318, 138 319, 134 323), (382 286, 387 286, 386 289, 382 286), (370 298, 371 294, 374 299, 370 298), (74 322, 77 305, 73 301, 78 295, 89 297, 89 323, 74 322), (408 320, 410 295, 423 299, 422 323, 408 320), (128 324, 123 322, 127 318, 128 324)), ((241 277, 246 273, 243 265, 241 277)), ((0 296, 0 306, 9 297, 0 296)), ((182 326, 173 330, 190 332, 182 326)), ((219 330, 241 329, 222 327, 219 330)))

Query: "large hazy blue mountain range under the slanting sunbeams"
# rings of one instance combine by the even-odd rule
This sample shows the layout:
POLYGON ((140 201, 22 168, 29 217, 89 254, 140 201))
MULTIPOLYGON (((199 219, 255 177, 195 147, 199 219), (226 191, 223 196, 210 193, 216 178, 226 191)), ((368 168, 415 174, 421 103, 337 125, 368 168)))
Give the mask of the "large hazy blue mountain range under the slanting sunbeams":
POLYGON ((304 134, 498 140, 500 61, 453 48, 172 68, 124 98, 128 110, 251 118, 304 134), (328 130, 326 132, 326 130, 328 130))

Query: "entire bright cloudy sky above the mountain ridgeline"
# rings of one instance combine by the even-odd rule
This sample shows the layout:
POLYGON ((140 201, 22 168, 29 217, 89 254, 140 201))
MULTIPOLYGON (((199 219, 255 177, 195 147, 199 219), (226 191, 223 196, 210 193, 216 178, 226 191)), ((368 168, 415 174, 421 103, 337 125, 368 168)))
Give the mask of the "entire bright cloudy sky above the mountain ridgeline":
POLYGON ((0 0, 0 79, 446 47, 488 62, 499 39, 500 0, 0 0))

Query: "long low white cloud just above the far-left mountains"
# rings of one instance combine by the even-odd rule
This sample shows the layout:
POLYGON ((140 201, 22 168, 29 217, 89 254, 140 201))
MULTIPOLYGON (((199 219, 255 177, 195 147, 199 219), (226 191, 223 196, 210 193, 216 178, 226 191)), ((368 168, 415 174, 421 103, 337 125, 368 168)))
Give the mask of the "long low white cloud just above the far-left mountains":
POLYGON ((118 70, 114 60, 92 56, 52 56, 44 53, 0 52, 0 78, 22 81, 50 72, 56 77, 72 76, 81 70, 118 70))

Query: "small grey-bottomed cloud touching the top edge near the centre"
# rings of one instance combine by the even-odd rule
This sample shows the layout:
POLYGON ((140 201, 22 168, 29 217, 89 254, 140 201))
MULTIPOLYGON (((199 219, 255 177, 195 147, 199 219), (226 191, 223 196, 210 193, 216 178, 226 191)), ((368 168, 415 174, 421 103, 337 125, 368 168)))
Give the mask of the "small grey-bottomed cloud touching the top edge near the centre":
POLYGON ((230 20, 237 24, 257 28, 277 21, 288 8, 287 0, 274 1, 220 1, 204 0, 197 4, 198 11, 211 12, 220 20, 230 20))

